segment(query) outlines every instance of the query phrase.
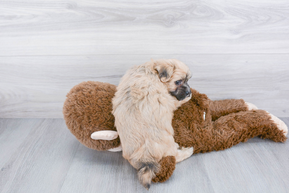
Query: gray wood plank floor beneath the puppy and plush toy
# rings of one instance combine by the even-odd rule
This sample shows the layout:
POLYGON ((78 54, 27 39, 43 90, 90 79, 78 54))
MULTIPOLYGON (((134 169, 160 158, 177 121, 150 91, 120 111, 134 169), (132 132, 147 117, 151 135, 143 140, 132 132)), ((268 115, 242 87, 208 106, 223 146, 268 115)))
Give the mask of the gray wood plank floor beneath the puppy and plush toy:
MULTIPOLYGON (((281 118, 289 126, 289 118, 281 118)), ((195 154, 149 192, 288 192, 289 143, 195 154)), ((147 192, 121 152, 80 144, 63 119, 0 119, 0 192, 147 192)))

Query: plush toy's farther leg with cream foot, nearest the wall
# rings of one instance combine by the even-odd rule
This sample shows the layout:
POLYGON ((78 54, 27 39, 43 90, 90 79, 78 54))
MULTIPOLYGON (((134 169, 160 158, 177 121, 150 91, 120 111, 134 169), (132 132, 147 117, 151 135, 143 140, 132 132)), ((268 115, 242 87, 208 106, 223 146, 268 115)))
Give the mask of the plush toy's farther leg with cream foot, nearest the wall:
POLYGON ((226 100, 210 100, 209 106, 211 110, 212 121, 221 116, 230 113, 238 113, 239 111, 258 109, 252 103, 247 103, 243 99, 226 99, 226 100))

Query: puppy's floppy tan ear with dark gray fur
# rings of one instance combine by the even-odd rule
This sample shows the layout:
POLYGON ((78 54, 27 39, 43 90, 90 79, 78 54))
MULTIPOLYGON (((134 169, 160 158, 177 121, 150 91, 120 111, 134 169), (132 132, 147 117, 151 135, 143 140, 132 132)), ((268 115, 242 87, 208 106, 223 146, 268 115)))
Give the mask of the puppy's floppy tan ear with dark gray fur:
POLYGON ((165 61, 155 61, 155 70, 159 73, 162 82, 168 82, 173 75, 175 67, 165 61))

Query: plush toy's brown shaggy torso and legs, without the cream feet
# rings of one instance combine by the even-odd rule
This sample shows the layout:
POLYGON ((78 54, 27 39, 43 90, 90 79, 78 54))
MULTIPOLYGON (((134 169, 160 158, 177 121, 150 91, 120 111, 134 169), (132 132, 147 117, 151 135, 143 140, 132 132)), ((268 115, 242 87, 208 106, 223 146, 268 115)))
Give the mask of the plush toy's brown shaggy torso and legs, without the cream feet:
POLYGON ((242 108, 238 103, 244 103, 243 100, 212 103, 209 102, 206 95, 200 94, 194 89, 191 91, 194 93, 193 97, 197 97, 197 99, 192 97, 190 101, 175 111, 172 125, 175 131, 175 142, 181 147, 194 147, 194 154, 224 150, 255 136, 269 138, 276 142, 286 141, 283 132, 270 120, 266 111, 240 111, 242 108), (222 116, 213 121, 211 106, 207 104, 214 104, 215 117, 222 116), (221 106, 220 112, 218 112, 216 104, 221 106), (234 109, 234 106, 237 108, 234 109), (226 110, 226 107, 233 109, 226 110), (205 120, 203 112, 206 112, 205 120))

